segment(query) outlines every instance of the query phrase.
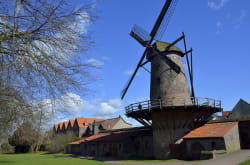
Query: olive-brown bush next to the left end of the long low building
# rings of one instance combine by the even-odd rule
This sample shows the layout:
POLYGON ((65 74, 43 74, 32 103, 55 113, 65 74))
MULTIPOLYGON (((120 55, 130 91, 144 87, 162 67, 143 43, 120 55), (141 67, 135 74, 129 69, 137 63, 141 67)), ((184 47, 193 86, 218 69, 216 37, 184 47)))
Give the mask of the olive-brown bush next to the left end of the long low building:
POLYGON ((47 144, 47 150, 49 153, 64 152, 66 145, 72 141, 75 141, 76 137, 73 134, 62 134, 56 135, 51 139, 50 143, 47 144))

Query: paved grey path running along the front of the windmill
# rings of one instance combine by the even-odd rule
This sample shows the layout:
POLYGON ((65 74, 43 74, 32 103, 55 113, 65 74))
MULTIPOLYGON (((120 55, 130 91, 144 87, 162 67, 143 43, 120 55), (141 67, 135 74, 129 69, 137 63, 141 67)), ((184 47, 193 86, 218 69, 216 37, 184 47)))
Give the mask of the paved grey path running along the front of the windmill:
POLYGON ((239 165, 241 162, 250 159, 250 150, 240 150, 230 154, 217 156, 215 159, 204 161, 166 161, 159 163, 126 162, 126 161, 105 161, 105 163, 121 165, 239 165))

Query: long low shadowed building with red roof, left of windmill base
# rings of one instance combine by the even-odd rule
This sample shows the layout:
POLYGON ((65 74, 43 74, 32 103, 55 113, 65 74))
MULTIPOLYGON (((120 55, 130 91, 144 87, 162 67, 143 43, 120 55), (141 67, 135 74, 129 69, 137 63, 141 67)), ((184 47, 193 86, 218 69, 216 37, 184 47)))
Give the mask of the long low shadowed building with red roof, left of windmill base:
POLYGON ((96 157, 153 158, 151 127, 100 132, 69 143, 67 153, 96 157))

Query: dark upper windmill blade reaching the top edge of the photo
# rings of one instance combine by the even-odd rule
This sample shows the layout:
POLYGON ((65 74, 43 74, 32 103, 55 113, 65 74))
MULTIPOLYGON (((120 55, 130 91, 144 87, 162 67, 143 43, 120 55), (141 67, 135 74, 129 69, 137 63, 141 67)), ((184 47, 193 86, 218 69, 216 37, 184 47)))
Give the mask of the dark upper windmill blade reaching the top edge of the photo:
MULTIPOLYGON (((155 35, 156 35, 156 33, 158 32, 158 29, 159 29, 159 27, 161 26, 162 21, 163 21, 164 17, 166 16, 166 13, 168 12, 168 9, 169 9, 169 7, 170 7, 172 1, 175 1, 175 0, 167 0, 167 1, 165 2, 165 5, 163 6, 163 8, 162 8, 162 10, 161 10, 161 13, 160 13, 160 15, 159 15, 159 17, 158 17, 158 19, 157 19, 157 21, 156 21, 156 23, 155 23, 155 25, 154 25, 152 31, 151 31, 151 33, 150 33, 150 36, 152 37, 152 38, 151 38, 151 42, 154 40, 155 35)), ((166 21, 167 21, 167 20, 166 20, 166 21)), ((150 43, 151 43, 151 42, 150 42, 150 43)))

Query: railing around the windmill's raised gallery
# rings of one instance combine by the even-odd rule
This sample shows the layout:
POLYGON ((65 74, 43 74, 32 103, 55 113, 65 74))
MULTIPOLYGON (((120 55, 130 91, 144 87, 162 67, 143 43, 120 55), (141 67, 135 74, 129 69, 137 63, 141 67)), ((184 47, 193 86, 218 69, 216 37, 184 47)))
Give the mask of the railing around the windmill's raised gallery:
POLYGON ((192 97, 190 99, 173 98, 163 103, 161 99, 141 101, 125 107, 126 113, 140 110, 150 110, 152 108, 172 107, 172 106, 207 106, 221 109, 221 100, 211 98, 192 97))

